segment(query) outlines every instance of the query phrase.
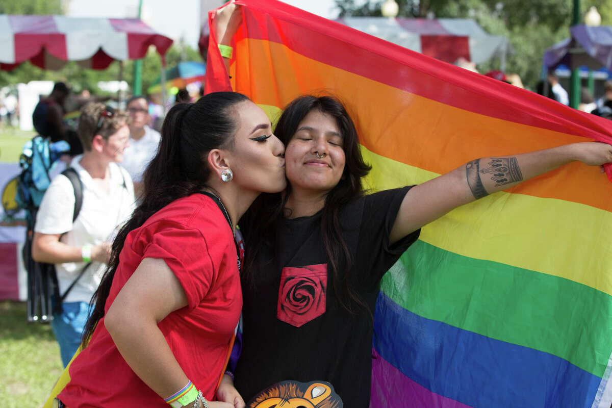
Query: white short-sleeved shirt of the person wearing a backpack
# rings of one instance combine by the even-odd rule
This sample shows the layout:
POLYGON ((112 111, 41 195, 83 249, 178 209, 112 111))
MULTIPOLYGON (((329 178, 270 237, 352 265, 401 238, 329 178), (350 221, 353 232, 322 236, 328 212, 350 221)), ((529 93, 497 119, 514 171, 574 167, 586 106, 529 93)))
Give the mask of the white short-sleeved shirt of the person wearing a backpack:
MULTIPOLYGON (((125 169, 117 163, 110 163, 110 191, 106 194, 96 188, 89 172, 80 165, 82 157, 76 156, 70 163, 83 182, 83 206, 75 222, 72 223, 74 189, 68 177, 59 174, 45 192, 34 226, 34 231, 41 234, 63 234, 60 242, 72 247, 112 242, 119 227, 132 215, 135 205, 134 186, 125 169)), ((64 294, 85 265, 84 262, 55 265, 60 294, 64 294)), ((106 264, 92 262, 64 302, 89 303, 105 268, 106 264)))

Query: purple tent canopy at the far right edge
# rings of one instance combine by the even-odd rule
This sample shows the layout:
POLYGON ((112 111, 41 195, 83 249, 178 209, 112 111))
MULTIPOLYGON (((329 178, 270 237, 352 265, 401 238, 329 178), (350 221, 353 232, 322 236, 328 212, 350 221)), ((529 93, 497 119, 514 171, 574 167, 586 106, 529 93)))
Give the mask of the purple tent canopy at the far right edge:
POLYGON ((570 28, 572 37, 544 52, 543 64, 549 70, 564 64, 570 69, 586 65, 612 69, 612 26, 591 27, 579 24, 570 28))

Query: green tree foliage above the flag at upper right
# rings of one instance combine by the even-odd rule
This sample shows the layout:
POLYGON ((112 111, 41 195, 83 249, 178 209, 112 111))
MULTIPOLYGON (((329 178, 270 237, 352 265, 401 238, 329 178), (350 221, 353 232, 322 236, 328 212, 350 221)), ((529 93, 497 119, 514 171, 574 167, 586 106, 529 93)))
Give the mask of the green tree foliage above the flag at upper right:
MULTIPOLYGON (((542 73, 542 55, 554 43, 569 37, 572 0, 396 0, 398 17, 473 18, 492 35, 504 35, 514 50, 506 72, 518 73, 534 88, 542 73)), ((380 16, 382 1, 335 0, 340 17, 380 16)), ((602 25, 612 25, 612 1, 582 0, 581 16, 595 6, 602 25)), ((582 21, 581 21, 582 22, 582 21)), ((479 65, 480 72, 499 69, 494 59, 479 65)))

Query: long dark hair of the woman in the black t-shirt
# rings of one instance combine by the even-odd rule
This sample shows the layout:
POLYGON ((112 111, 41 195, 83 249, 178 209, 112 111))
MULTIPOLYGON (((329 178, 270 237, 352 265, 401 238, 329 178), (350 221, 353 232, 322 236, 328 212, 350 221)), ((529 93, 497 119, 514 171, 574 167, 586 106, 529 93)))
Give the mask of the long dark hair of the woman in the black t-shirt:
MULTIPOLYGON (((325 198, 325 205, 321 213, 321 232, 323 233, 323 245, 329 258, 334 281, 334 292, 343 308, 353 313, 353 305, 364 306, 359 295, 353 290, 348 280, 348 272, 353 265, 353 259, 348 245, 341 234, 340 218, 338 212, 340 207, 364 195, 362 177, 367 176, 371 166, 365 163, 359 149, 359 136, 353 120, 349 116, 343 104, 335 97, 304 95, 294 99, 278 119, 274 131, 280 141, 287 146, 296 133, 300 122, 304 120, 310 111, 316 109, 321 113, 333 117, 337 123, 338 130, 343 138, 343 150, 345 152, 345 168, 337 185, 330 190, 325 198), (345 270, 346 273, 341 273, 345 270), (343 292, 338 291, 343 287, 343 292), (344 302, 348 296, 349 302, 344 302)), ((275 247, 278 231, 278 223, 283 217, 283 208, 291 193, 291 185, 288 184, 283 194, 264 194, 259 196, 247 212, 245 229, 249 236, 255 239, 247 239, 245 242, 245 273, 243 280, 246 284, 255 284, 253 267, 255 258, 261 249, 261 245, 267 243, 275 247), (259 239, 259 237, 268 239, 259 239)))

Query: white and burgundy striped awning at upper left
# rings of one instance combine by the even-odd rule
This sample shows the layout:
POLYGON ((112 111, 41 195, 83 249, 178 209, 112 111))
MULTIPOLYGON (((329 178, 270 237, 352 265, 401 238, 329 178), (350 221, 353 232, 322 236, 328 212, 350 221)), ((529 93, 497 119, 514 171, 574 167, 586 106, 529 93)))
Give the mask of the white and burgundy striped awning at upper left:
POLYGON ((144 57, 150 45, 163 57, 172 42, 138 18, 0 15, 2 70, 24 61, 50 70, 67 61, 105 69, 115 60, 144 57))

